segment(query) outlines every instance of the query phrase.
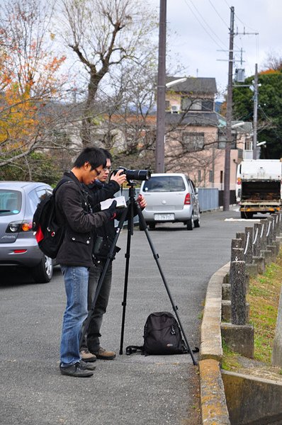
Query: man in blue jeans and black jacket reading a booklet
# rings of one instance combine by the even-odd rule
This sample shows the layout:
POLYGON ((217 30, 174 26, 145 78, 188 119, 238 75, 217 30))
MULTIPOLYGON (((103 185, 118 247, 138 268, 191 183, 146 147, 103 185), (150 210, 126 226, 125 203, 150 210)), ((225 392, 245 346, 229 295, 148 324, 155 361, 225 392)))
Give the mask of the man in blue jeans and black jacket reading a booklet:
POLYGON ((74 162, 72 171, 65 173, 65 181, 57 190, 56 215, 65 227, 64 240, 57 254, 64 275, 67 307, 62 324, 60 371, 62 375, 87 377, 94 366, 81 361, 79 339, 81 325, 87 317, 89 268, 93 266, 93 231, 115 216, 115 201, 108 210, 92 212, 88 194, 81 183, 94 183, 106 166, 101 149, 84 149, 74 162), (91 367, 92 366, 92 367, 91 367))

